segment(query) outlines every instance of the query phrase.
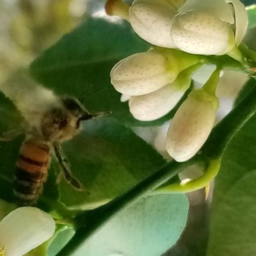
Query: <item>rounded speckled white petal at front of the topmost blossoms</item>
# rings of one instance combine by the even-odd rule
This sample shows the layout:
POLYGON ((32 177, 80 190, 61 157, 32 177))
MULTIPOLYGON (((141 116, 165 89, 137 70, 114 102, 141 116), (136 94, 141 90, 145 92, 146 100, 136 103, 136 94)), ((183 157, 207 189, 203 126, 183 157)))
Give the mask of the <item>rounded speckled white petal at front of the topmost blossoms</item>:
POLYGON ((234 47, 230 25, 200 11, 175 16, 171 36, 179 49, 193 54, 224 54, 234 47))

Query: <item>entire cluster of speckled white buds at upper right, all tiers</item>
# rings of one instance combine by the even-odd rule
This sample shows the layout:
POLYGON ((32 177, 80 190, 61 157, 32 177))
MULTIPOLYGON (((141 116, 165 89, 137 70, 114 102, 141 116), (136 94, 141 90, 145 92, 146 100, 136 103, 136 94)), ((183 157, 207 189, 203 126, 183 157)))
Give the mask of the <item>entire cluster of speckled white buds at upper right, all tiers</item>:
MULTIPOLYGON (((119 61, 110 74, 138 120, 156 120, 170 112, 205 56, 227 54, 243 61, 238 45, 248 17, 239 0, 134 0, 131 6, 109 0, 106 11, 127 19, 141 38, 154 45, 119 61)), ((204 86, 189 94, 173 117, 166 150, 176 161, 193 157, 211 132, 220 69, 216 67, 204 86)))

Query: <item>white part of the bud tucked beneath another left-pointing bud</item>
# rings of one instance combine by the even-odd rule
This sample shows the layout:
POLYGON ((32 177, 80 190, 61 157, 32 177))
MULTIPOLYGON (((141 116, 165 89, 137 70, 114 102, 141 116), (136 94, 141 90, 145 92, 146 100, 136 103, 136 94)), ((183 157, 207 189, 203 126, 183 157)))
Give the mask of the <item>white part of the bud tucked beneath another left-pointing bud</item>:
POLYGON ((156 92, 131 97, 129 108, 132 116, 141 121, 156 120, 169 113, 182 98, 186 90, 177 90, 167 84, 156 92))

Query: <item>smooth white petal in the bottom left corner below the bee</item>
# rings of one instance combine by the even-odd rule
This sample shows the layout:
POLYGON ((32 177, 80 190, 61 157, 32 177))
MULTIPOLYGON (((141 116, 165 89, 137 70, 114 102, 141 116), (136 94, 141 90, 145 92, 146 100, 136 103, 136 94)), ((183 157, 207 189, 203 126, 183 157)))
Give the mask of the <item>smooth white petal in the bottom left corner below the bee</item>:
POLYGON ((22 256, 49 239, 55 230, 52 217, 35 207, 20 207, 0 223, 4 256, 22 256))

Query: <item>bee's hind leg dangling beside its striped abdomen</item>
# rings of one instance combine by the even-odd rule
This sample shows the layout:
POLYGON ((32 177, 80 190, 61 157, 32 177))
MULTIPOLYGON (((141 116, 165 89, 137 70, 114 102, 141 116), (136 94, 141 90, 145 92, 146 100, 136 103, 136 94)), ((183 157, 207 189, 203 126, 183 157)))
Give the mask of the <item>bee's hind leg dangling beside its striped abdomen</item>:
POLYGON ((58 159, 58 162, 60 164, 60 174, 58 175, 57 182, 60 182, 62 177, 65 177, 65 180, 68 182, 68 184, 71 184, 74 188, 76 188, 79 191, 86 191, 86 189, 83 188, 83 185, 79 180, 77 180, 70 170, 70 164, 67 161, 67 158, 63 154, 63 151, 61 150, 60 143, 54 143, 54 152, 58 159))

